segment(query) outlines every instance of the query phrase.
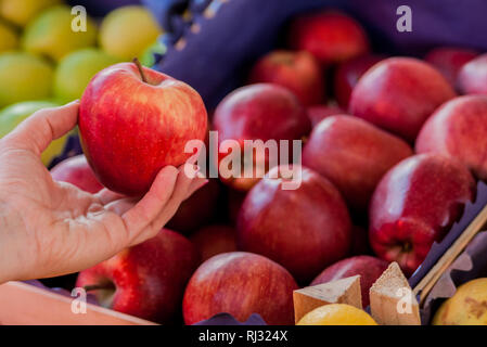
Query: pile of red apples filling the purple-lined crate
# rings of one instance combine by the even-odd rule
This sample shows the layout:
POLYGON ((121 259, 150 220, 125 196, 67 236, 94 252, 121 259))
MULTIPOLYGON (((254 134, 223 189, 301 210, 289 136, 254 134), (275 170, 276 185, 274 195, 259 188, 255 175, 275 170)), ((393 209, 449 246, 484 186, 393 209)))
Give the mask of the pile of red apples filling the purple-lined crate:
MULTIPOLYGON (((240 143, 303 140, 300 187, 283 190, 279 166, 262 179, 210 179, 156 237, 80 272, 77 286, 99 285, 101 305, 165 324, 221 312, 293 324, 294 290, 360 274, 367 307, 388 262, 411 275, 475 200, 476 180, 487 179, 487 54, 377 55, 360 24, 334 11, 294 18, 286 35, 289 46, 256 61, 207 130, 240 143)), ((134 171, 153 162, 144 151, 134 171)), ((90 164, 97 175, 80 156, 52 176, 89 192, 99 181, 148 185, 111 184, 103 163, 90 164)))

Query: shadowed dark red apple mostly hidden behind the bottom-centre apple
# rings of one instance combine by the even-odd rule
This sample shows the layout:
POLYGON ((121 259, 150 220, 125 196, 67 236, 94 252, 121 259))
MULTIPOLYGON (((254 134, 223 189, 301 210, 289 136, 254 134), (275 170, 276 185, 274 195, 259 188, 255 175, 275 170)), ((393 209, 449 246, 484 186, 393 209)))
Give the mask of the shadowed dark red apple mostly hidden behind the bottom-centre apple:
POLYGON ((208 226, 190 236, 200 250, 202 261, 221 253, 236 250, 236 232, 229 226, 208 226))

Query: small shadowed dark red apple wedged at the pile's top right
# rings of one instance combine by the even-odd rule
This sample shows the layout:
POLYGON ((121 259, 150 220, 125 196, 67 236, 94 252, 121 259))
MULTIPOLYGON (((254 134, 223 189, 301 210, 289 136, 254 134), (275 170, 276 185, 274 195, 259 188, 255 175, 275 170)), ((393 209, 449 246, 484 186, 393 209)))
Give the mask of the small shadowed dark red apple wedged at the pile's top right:
POLYGON ((457 76, 463 65, 478 55, 474 50, 454 47, 439 47, 431 50, 424 60, 435 66, 456 87, 457 76))

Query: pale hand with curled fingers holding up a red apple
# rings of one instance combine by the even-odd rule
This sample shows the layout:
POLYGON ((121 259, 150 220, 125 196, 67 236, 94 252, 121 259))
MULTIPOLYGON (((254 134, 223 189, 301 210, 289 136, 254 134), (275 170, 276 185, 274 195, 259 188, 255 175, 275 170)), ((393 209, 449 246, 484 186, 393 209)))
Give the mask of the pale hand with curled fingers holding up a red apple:
MULTIPOLYGON (((80 271, 152 236, 207 180, 163 168, 142 198, 55 182, 40 154, 77 124, 78 102, 37 112, 0 140, 0 283, 80 271)), ((191 168, 184 170, 184 166, 191 168)))

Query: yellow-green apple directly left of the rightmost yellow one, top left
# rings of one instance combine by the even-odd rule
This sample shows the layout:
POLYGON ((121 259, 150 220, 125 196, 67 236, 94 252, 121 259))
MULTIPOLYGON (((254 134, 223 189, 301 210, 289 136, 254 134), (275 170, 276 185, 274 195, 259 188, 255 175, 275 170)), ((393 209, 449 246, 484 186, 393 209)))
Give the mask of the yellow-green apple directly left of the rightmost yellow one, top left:
POLYGON ((67 53, 94 46, 97 26, 87 17, 87 30, 74 31, 71 8, 50 8, 27 25, 22 43, 27 52, 49 56, 59 62, 67 53))

